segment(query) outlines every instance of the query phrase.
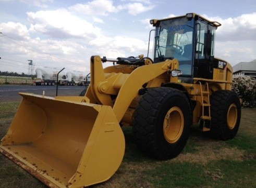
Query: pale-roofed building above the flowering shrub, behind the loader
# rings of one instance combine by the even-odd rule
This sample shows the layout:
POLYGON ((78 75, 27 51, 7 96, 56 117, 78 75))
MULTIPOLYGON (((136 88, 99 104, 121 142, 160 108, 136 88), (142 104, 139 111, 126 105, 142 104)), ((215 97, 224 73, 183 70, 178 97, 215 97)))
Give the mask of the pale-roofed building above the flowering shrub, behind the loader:
POLYGON ((233 75, 251 76, 256 79, 256 59, 250 62, 240 62, 234 65, 233 75))

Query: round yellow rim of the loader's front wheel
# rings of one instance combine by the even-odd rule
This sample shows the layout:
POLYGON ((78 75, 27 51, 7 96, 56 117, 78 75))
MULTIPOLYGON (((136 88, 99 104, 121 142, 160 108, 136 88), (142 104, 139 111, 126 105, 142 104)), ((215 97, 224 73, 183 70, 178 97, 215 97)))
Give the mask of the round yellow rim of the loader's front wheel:
POLYGON ((164 137, 167 142, 175 143, 179 140, 184 129, 184 115, 177 106, 171 108, 164 118, 164 137))

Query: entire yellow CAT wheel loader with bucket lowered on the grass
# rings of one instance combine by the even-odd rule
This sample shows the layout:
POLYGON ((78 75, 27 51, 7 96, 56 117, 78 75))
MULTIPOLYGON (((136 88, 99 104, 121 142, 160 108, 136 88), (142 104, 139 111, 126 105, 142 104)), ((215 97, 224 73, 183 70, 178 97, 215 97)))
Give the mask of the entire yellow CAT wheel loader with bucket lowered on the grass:
POLYGON ((214 57, 221 24, 194 13, 150 23, 153 58, 92 56, 85 95, 19 93, 2 154, 50 187, 83 187, 119 168, 121 126, 132 126, 142 153, 160 160, 181 153, 192 124, 215 139, 233 139, 241 107, 231 91, 231 65, 214 57), (113 65, 103 68, 105 62, 113 65))

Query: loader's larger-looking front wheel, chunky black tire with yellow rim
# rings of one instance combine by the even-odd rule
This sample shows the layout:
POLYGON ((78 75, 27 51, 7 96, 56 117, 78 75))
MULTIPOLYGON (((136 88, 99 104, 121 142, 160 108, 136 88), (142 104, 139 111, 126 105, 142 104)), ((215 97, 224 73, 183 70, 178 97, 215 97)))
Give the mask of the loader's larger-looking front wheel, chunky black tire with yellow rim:
POLYGON ((149 157, 167 160, 184 149, 191 125, 187 97, 173 88, 153 88, 138 103, 133 119, 133 136, 149 157))

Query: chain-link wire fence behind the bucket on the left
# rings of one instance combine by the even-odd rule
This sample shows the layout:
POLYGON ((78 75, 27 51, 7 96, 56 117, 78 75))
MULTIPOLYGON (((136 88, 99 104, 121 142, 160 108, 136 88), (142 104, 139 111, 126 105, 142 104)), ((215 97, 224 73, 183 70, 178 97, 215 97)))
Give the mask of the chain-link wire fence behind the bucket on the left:
POLYGON ((31 77, 0 76, 0 118, 14 117, 22 97, 19 92, 34 93, 48 97, 79 96, 86 86, 83 84, 35 85, 31 77), (57 91, 58 89, 58 91, 57 91))

